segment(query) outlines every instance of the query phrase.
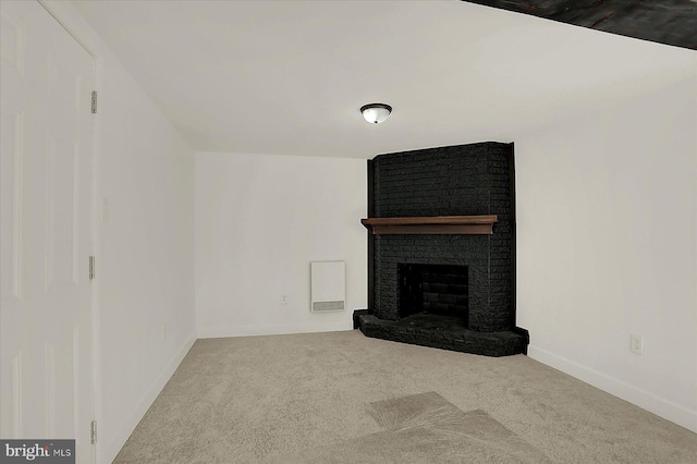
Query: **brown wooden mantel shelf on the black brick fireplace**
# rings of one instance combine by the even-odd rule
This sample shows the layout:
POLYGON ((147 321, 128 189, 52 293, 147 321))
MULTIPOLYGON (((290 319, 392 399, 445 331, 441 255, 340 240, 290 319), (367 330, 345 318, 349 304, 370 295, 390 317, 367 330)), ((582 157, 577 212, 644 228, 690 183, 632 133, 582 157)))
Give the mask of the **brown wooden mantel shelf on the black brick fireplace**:
POLYGON ((493 233, 494 216, 435 216, 420 218, 368 218, 360 223, 379 234, 478 234, 493 233))

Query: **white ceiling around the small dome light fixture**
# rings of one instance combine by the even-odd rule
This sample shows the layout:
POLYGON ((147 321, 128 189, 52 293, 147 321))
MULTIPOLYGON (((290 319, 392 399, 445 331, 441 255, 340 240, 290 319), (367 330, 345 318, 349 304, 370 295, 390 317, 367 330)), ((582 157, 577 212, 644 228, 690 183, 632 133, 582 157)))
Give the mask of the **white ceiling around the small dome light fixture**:
POLYGON ((694 72, 692 50, 455 0, 72 3, 201 151, 515 142, 694 72), (394 111, 371 125, 368 102, 394 111))

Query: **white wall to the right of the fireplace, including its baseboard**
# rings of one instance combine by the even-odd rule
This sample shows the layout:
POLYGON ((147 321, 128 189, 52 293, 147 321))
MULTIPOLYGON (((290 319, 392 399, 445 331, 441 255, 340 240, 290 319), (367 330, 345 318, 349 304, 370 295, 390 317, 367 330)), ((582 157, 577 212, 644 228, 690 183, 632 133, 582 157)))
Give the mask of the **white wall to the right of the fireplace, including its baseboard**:
POLYGON ((531 357, 697 431, 697 56, 682 52, 660 87, 516 141, 517 315, 531 357))

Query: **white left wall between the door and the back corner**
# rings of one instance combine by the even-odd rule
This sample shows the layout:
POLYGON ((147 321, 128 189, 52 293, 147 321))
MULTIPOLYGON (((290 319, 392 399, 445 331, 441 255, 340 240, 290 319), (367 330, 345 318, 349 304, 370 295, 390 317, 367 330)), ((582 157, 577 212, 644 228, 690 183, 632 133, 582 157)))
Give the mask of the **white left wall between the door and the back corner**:
POLYGON ((193 151, 80 14, 47 5, 98 62, 95 197, 110 205, 95 247, 97 462, 106 463, 195 340, 193 151))

